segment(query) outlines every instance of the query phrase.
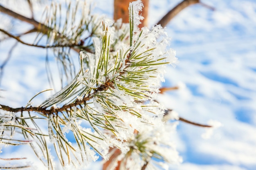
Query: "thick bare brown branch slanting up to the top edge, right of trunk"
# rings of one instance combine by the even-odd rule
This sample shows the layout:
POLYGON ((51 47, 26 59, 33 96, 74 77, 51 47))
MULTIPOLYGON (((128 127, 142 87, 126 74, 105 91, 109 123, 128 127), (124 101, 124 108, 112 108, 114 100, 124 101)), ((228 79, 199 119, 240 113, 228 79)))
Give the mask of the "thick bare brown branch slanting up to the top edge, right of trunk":
POLYGON ((173 19, 178 13, 180 13, 180 11, 182 11, 184 8, 192 4, 199 3, 199 1, 200 0, 183 0, 182 2, 177 4, 176 7, 171 9, 171 11, 166 13, 166 15, 164 15, 164 17, 161 20, 159 20, 157 24, 161 24, 162 27, 165 27, 168 24, 168 22, 171 21, 171 19, 173 19))

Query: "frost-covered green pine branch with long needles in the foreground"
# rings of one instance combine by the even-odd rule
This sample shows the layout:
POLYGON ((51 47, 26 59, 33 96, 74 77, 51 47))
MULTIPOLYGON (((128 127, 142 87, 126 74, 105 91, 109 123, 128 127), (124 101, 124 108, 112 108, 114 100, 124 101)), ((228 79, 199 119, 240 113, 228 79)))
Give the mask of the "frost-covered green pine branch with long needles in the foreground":
MULTIPOLYGON (((72 11, 71 6, 65 12, 72 11)), ((76 4, 72 17, 78 15, 78 8, 76 4)), ((66 16, 62 24, 56 15, 63 12, 61 5, 52 5, 50 11, 55 15, 45 15, 45 26, 51 29, 40 32, 47 36, 47 45, 65 45, 71 40, 78 44, 79 37, 86 40, 89 36, 90 51, 81 48, 80 70, 40 106, 31 101, 25 108, 1 105, 2 144, 29 144, 48 169, 55 168, 53 152, 64 169, 79 169, 99 156, 108 160, 110 148, 121 153, 109 169, 121 160, 123 170, 165 169, 168 163, 180 162, 170 140, 176 124, 163 121, 166 109, 155 102, 165 66, 174 64, 176 58, 161 26, 138 28, 141 8, 140 0, 130 4, 129 24, 95 19, 89 11, 81 13, 87 18, 81 17, 80 22, 73 23, 66 16), (92 31, 89 35, 88 30, 92 31)), ((65 51, 58 50, 54 48, 63 61, 65 51)))

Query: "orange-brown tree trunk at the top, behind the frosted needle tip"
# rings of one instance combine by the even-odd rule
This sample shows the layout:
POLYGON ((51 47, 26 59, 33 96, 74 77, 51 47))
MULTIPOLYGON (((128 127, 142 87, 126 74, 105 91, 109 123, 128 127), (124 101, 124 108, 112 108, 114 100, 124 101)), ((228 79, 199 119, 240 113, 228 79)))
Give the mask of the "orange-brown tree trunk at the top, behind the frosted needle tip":
MULTIPOLYGON (((114 0, 114 20, 122 18, 124 23, 129 22, 129 3, 134 0, 114 0)), ((141 15, 144 17, 144 20, 141 21, 139 25, 140 28, 147 26, 148 24, 148 2, 149 0, 141 0, 144 4, 141 15)))

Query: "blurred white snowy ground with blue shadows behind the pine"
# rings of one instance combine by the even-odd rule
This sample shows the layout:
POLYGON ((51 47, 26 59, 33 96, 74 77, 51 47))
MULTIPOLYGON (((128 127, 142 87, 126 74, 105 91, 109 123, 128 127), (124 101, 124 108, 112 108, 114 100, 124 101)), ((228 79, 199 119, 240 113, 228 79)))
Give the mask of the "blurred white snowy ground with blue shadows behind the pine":
MULTIPOLYGON (((113 0, 94 1, 95 13, 112 18, 113 0)), ((150 0, 149 25, 179 2, 150 0)), ((256 1, 202 2, 215 10, 195 4, 166 26, 179 63, 168 67, 163 86, 181 88, 159 95, 159 101, 191 121, 207 124, 216 120, 222 126, 208 137, 205 128, 180 122, 173 140, 183 163, 171 166, 171 170, 255 170, 256 1)), ((16 29, 22 32, 26 26, 16 29)), ((0 44, 0 64, 13 44, 12 40, 0 44)), ((33 95, 49 88, 45 53, 43 49, 17 46, 4 70, 0 89, 5 91, 0 91, 0 104, 25 106, 33 95)), ((36 98, 35 103, 46 95, 36 98)), ((33 152, 22 150, 33 162, 33 152)), ((18 155, 18 150, 3 151, 1 154, 18 155)), ((100 170, 100 166, 96 163, 88 169, 100 170)))

